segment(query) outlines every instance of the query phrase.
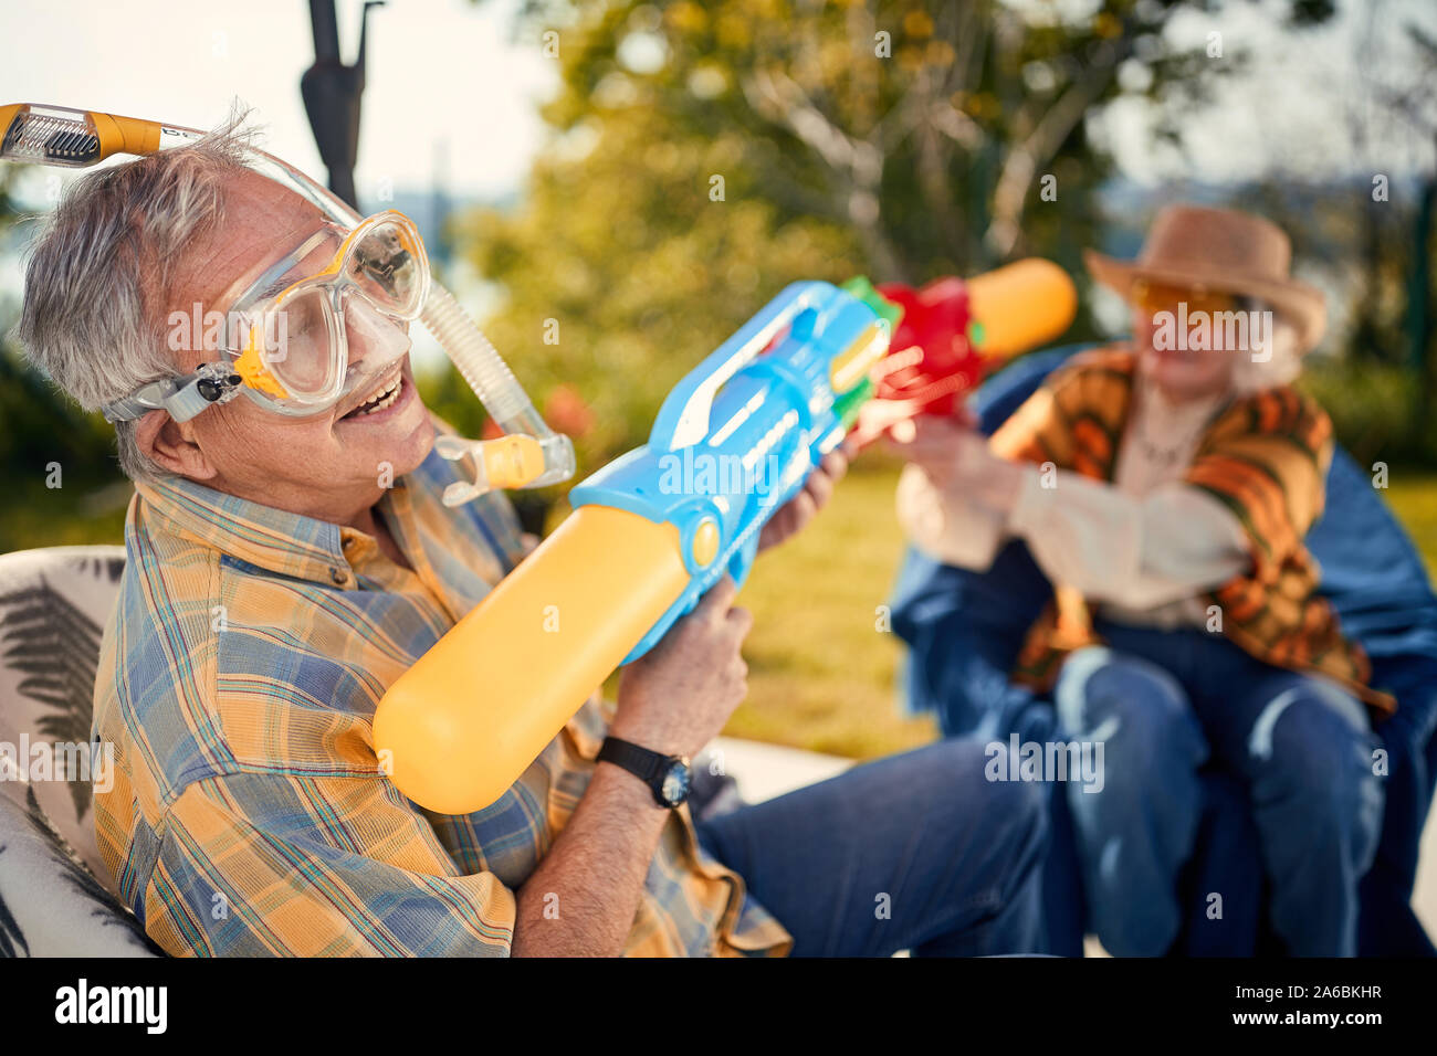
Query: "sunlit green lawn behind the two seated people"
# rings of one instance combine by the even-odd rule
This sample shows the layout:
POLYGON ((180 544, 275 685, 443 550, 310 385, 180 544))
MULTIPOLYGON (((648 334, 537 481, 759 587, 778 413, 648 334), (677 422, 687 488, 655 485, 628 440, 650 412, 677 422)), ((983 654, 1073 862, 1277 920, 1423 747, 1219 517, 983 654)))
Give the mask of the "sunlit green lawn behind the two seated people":
MULTIPOLYGON (((901 642, 877 629, 902 555, 897 480, 895 466, 865 455, 808 530, 759 557, 739 595, 754 615, 749 700, 726 733, 855 759, 937 737, 930 718, 901 715, 901 642)), ((1395 471, 1385 499, 1437 575, 1437 474, 1395 471)), ((9 549, 118 543, 124 511, 105 506, 75 519, 13 509, 9 549)))

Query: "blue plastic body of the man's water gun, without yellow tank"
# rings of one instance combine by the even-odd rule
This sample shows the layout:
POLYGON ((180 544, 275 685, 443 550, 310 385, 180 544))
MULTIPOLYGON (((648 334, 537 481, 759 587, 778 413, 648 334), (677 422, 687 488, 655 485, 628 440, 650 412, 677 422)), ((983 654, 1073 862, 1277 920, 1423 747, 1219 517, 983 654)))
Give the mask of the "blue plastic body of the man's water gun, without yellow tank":
POLYGON ((648 443, 569 493, 678 532, 688 583, 622 662, 648 652, 727 572, 741 585, 775 511, 872 392, 898 309, 864 279, 793 283, 664 401, 648 443))

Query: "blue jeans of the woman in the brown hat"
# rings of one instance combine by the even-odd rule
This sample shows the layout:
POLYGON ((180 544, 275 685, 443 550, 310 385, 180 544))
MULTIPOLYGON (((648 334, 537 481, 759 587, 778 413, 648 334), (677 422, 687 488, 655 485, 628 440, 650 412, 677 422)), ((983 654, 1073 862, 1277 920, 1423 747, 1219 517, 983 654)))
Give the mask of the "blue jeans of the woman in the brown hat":
MULTIPOLYGON (((1099 622, 1055 690, 1063 736, 1104 746, 1104 783, 1065 789, 1089 921, 1117 955, 1168 950, 1201 813, 1197 772, 1247 792, 1267 920, 1293 955, 1357 953, 1358 881, 1377 851, 1380 741, 1336 682, 1255 659, 1220 634, 1099 622)), ((1223 892, 1203 892, 1209 912, 1223 892), (1216 895, 1216 898, 1214 898, 1216 895)))

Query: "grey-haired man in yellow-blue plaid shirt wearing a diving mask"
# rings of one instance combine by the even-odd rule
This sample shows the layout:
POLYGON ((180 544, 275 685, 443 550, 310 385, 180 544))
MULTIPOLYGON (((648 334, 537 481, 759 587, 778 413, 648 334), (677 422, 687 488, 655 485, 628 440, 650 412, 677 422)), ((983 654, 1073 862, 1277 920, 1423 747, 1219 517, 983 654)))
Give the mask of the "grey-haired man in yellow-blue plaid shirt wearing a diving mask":
MULTIPOLYGON (((731 583, 624 672, 612 721, 585 705, 493 806, 440 816, 398 793, 375 704, 523 546, 502 496, 441 504, 454 470, 431 453, 401 303, 414 263, 343 234, 221 132, 79 181, 33 250, 22 338, 116 420, 137 487, 95 690, 118 776, 95 806, 147 932, 172 954, 1035 948, 1040 797, 986 782, 977 744, 697 828, 639 776, 625 756, 698 751, 744 695, 731 583), (283 316, 287 376, 339 362, 313 379, 328 405, 286 402, 233 335, 167 330, 302 279, 322 293, 283 316), (605 744, 622 750, 599 761, 605 744)), ((764 542, 842 470, 816 471, 764 542)))

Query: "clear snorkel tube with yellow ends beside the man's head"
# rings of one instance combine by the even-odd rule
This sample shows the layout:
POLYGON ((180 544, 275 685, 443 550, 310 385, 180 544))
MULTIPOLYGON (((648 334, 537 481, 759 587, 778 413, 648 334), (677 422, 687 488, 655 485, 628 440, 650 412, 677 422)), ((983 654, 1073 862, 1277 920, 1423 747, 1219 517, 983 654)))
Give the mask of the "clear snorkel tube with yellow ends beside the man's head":
MULTIPOLYGON (((188 147, 204 135, 193 128, 69 106, 0 105, 3 161, 88 168, 115 154, 148 157, 188 147)), ((247 149, 249 168, 295 191, 346 230, 359 223, 355 210, 289 162, 253 147, 247 149)), ((438 282, 430 283, 420 322, 504 432, 494 440, 445 435, 435 441, 435 450, 450 461, 473 455, 474 480, 450 484, 444 504, 458 506, 497 488, 546 487, 572 477, 570 440, 549 428, 499 351, 438 282)))

